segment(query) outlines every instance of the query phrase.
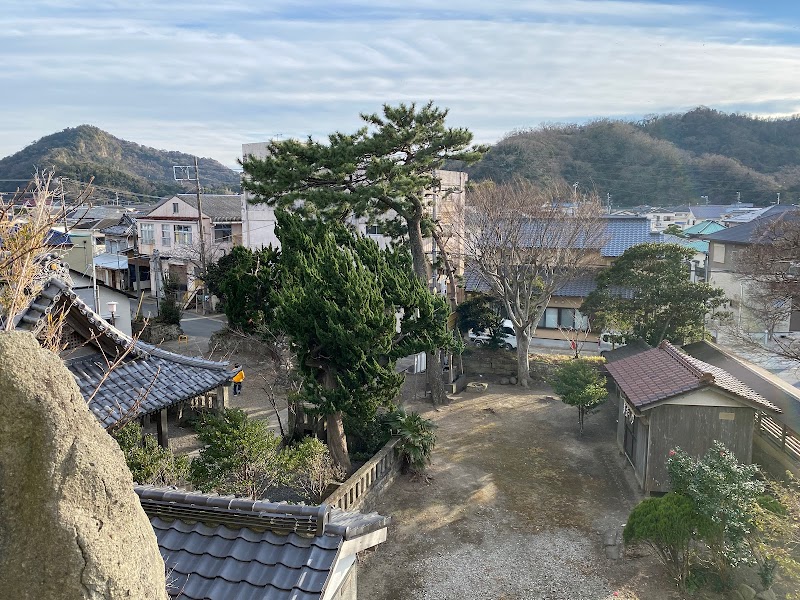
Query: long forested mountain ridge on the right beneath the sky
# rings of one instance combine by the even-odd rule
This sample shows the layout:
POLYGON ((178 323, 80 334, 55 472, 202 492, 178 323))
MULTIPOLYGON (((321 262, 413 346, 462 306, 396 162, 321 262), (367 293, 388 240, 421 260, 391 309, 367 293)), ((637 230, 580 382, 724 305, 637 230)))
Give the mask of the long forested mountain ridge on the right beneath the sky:
POLYGON ((697 108, 640 122, 598 120, 509 134, 469 168, 473 181, 522 176, 611 194, 614 207, 800 197, 800 118, 697 108))

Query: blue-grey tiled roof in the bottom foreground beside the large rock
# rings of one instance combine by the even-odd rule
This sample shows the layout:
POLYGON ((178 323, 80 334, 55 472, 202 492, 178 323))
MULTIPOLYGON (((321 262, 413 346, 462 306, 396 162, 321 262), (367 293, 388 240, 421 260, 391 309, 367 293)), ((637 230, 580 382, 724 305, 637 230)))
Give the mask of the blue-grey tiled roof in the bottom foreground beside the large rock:
POLYGON ((382 529, 380 515, 136 486, 186 600, 318 600, 345 540, 382 529), (344 523, 337 523, 337 518, 344 523))

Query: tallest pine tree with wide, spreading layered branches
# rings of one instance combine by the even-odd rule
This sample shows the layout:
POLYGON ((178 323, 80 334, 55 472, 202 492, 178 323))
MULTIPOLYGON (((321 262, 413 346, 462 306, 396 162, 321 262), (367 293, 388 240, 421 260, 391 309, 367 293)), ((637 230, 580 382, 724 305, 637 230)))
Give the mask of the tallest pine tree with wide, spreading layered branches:
MULTIPOLYGON (((272 141, 264 159, 245 157, 242 187, 256 202, 297 208, 341 221, 348 216, 385 218, 398 238, 407 236, 413 269, 426 285, 430 262, 424 239, 433 231, 426 191, 439 187, 435 170, 447 160, 477 161, 485 148, 470 147, 472 133, 445 126, 447 110, 384 105, 382 115, 362 114, 366 126, 351 135, 333 133, 328 143, 272 141)), ((435 402, 444 397, 441 364, 428 356, 428 383, 435 402)))

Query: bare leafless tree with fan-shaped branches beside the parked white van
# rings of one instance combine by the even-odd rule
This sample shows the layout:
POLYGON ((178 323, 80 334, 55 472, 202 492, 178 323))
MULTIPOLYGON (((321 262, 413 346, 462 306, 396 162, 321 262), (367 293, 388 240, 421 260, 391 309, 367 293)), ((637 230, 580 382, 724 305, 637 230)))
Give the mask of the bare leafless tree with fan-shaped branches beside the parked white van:
POLYGON ((606 227, 597 196, 527 180, 483 183, 468 196, 469 268, 505 307, 517 337, 517 380, 529 385, 528 345, 553 293, 598 265, 606 227))

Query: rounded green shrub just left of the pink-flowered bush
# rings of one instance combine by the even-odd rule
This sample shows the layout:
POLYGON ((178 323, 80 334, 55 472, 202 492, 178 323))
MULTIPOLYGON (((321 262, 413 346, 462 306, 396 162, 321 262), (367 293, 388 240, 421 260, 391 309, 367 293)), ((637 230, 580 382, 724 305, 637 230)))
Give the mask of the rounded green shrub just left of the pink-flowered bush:
POLYGON ((652 548, 677 586, 685 590, 698 520, 694 503, 686 496, 669 493, 647 498, 628 516, 623 539, 626 544, 652 548))

